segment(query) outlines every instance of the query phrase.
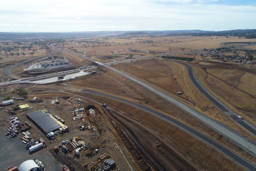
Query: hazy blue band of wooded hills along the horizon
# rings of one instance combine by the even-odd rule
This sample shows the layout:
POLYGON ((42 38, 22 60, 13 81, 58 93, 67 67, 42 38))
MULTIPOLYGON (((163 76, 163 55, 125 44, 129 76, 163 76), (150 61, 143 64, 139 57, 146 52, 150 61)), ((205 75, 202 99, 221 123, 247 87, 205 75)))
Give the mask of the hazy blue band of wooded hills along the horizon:
POLYGON ((0 32, 0 41, 4 40, 35 40, 35 39, 63 39, 63 38, 93 38, 102 37, 156 37, 156 36, 238 36, 247 39, 256 38, 256 29, 238 29, 225 31, 205 30, 141 30, 141 31, 80 31, 80 32, 53 32, 53 33, 8 33, 0 32))

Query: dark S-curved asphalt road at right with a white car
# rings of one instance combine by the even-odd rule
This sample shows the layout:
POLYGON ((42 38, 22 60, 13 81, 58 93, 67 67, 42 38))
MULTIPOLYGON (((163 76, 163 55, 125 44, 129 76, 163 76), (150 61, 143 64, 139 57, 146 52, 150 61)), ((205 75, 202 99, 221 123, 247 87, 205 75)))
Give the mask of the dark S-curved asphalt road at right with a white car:
MULTIPOLYGON (((165 60, 171 60, 171 59, 165 59, 165 60)), ((188 65, 185 62, 181 62, 181 61, 177 61, 177 60, 171 60, 177 63, 180 63, 182 65, 184 65, 187 70, 188 70, 188 76, 190 78, 190 80, 194 83, 194 85, 196 86, 196 88, 202 93, 204 94, 204 96, 209 99, 215 106, 217 106, 220 110, 223 109, 227 109, 229 112, 231 112, 232 114, 229 114, 230 117, 232 117, 237 123, 239 123, 240 125, 242 125, 245 129, 247 129, 248 131, 250 131, 252 134, 256 135, 256 130, 255 128, 248 123, 245 120, 241 120, 238 119, 238 115, 236 113, 234 113, 232 110, 228 109, 227 106, 223 105, 219 100, 217 100, 215 97, 213 97, 213 95, 211 95, 199 82, 198 80, 195 78, 193 69, 190 65, 188 65)), ((225 113, 225 112, 223 112, 225 113)), ((226 114, 226 113, 225 113, 226 114)))

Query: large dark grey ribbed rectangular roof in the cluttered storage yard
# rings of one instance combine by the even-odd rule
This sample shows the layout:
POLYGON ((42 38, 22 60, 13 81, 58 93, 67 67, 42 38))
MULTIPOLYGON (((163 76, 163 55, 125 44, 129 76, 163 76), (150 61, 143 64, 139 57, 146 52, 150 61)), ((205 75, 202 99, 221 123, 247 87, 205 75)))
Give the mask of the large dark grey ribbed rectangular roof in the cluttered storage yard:
POLYGON ((51 114, 44 113, 41 110, 26 114, 33 120, 46 134, 54 132, 62 126, 50 117, 51 114))

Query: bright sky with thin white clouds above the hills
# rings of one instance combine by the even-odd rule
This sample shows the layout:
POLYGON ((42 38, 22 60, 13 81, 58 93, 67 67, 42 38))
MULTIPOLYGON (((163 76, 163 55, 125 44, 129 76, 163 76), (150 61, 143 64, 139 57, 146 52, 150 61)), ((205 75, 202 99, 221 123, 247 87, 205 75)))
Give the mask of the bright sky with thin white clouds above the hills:
POLYGON ((255 0, 5 0, 0 32, 256 29, 255 0))

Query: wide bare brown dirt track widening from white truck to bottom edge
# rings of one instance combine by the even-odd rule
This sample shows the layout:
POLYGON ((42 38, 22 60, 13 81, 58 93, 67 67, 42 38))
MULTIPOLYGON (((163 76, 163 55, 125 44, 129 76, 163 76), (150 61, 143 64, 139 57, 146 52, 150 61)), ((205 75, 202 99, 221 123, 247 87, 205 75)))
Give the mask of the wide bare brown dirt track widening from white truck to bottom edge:
POLYGON ((104 111, 125 130, 159 170, 202 170, 151 129, 118 111, 107 108, 104 111))

